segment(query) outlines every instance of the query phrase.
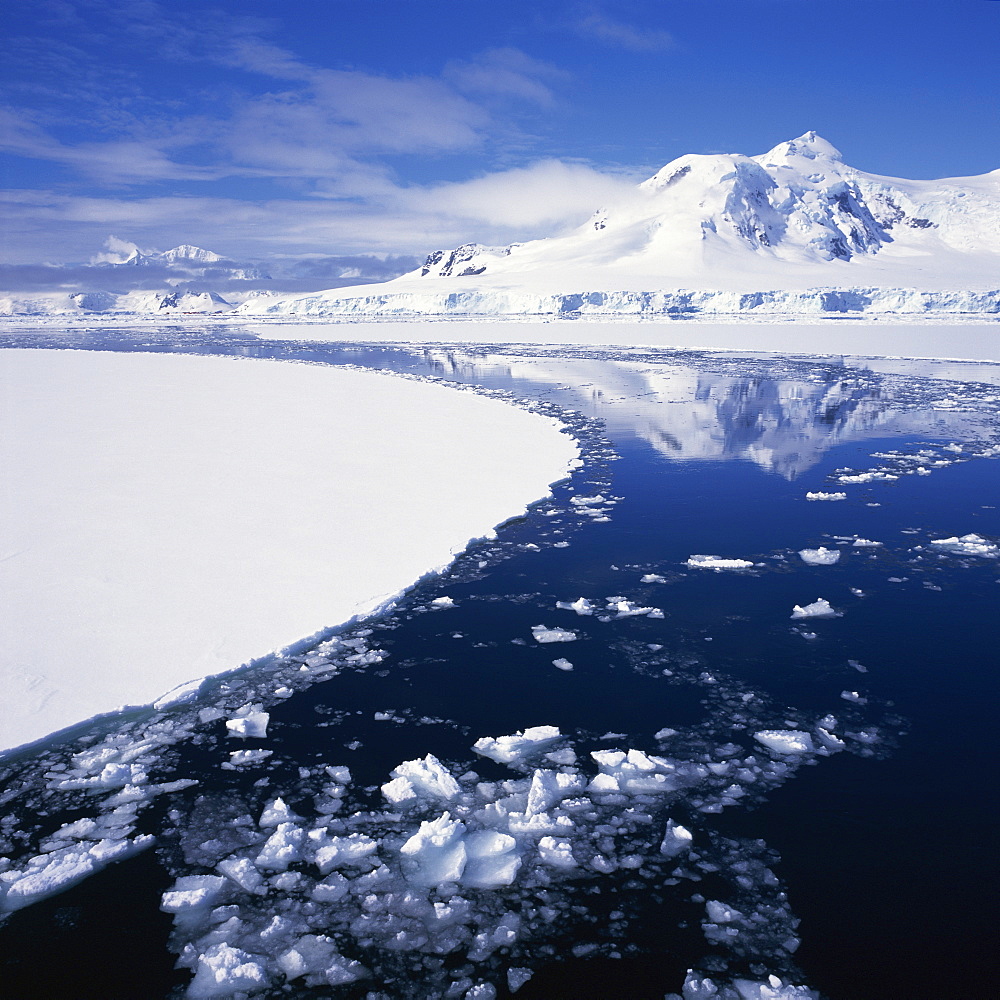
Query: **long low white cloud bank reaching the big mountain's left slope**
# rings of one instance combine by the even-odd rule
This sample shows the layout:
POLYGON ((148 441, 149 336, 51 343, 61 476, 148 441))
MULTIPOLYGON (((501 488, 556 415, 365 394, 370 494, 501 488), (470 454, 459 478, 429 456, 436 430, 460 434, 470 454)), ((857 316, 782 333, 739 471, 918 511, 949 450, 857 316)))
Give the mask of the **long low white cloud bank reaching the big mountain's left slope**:
POLYGON ((470 241, 502 244, 550 235, 583 223, 630 186, 628 178, 581 163, 543 160, 450 184, 399 187, 383 180, 364 199, 7 191, 0 192, 0 214, 10 239, 0 260, 87 260, 109 230, 119 235, 105 245, 120 253, 135 245, 194 243, 236 259, 280 252, 422 256, 470 241))

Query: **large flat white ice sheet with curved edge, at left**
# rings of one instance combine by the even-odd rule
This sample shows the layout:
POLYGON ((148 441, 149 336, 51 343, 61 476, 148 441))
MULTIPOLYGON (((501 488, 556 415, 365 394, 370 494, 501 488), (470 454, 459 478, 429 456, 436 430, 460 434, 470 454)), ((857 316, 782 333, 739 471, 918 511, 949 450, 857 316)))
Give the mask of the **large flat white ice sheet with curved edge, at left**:
POLYGON ((4 350, 0 400, 0 748, 372 613, 577 455, 500 400, 315 365, 4 350))

